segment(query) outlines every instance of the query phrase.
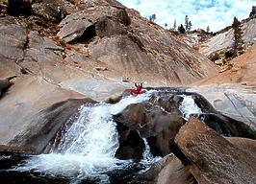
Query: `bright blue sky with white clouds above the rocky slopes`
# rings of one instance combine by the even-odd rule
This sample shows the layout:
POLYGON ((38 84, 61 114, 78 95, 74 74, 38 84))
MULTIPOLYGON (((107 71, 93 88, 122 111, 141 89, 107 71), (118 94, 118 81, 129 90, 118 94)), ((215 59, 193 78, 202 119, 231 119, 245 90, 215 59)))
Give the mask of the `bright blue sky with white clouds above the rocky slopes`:
POLYGON ((156 23, 167 28, 184 24, 185 15, 192 21, 192 30, 210 27, 211 32, 219 31, 233 22, 247 18, 256 0, 118 0, 124 6, 135 9, 143 17, 156 14, 156 23))

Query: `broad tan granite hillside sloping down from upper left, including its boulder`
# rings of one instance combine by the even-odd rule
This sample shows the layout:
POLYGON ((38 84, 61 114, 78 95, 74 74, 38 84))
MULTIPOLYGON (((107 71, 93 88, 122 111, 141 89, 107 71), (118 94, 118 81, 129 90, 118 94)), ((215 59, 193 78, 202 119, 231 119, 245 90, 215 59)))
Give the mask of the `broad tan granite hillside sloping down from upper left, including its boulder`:
POLYGON ((165 29, 115 1, 45 0, 32 3, 31 11, 1 17, 1 78, 23 72, 65 87, 81 78, 180 85, 217 71, 165 29))

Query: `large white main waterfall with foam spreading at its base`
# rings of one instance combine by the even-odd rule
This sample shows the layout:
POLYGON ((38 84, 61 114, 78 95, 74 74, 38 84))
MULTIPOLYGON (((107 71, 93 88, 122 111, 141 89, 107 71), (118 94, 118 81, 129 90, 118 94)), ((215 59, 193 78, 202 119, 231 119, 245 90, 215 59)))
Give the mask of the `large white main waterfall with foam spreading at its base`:
POLYGON ((16 170, 85 178, 124 167, 129 161, 115 158, 118 136, 113 115, 148 100, 151 93, 128 96, 117 104, 81 106, 78 119, 49 154, 33 156, 16 170))

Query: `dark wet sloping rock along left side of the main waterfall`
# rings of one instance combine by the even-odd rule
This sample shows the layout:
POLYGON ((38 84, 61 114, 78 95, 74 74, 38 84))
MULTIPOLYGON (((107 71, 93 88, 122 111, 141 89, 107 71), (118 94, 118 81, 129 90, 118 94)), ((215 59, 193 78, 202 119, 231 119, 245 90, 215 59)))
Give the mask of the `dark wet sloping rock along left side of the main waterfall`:
POLYGON ((9 145, 15 148, 29 148, 36 153, 41 153, 58 130, 82 104, 86 103, 93 104, 95 102, 90 99, 69 99, 41 110, 31 120, 30 127, 15 136, 9 145))

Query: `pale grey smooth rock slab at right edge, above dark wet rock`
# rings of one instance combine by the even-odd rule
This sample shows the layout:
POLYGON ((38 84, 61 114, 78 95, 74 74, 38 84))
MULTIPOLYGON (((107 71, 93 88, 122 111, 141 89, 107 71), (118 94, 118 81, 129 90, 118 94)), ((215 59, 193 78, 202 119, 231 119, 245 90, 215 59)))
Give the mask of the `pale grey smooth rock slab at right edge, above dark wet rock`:
POLYGON ((235 84, 205 84, 194 86, 223 115, 256 128, 255 88, 235 84))

